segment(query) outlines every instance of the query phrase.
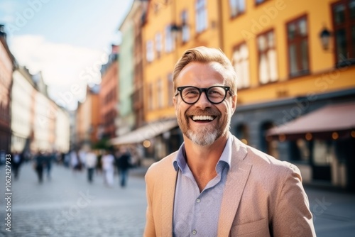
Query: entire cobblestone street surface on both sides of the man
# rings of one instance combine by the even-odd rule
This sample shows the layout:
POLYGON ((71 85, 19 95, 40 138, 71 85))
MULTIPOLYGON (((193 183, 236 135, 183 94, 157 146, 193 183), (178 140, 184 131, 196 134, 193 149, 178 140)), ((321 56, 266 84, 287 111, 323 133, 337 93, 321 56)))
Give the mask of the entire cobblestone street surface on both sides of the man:
MULTIPOLYGON (((144 170, 143 170, 144 171, 144 170)), ((105 187, 102 175, 53 166, 51 180, 38 184, 31 164, 11 180, 11 232, 6 231, 5 169, 0 167, 0 236, 142 236, 146 194, 143 172, 131 170, 128 186, 105 187)), ((305 187, 319 237, 354 236, 355 194, 305 187)), ((302 236, 302 235, 301 235, 302 236)))

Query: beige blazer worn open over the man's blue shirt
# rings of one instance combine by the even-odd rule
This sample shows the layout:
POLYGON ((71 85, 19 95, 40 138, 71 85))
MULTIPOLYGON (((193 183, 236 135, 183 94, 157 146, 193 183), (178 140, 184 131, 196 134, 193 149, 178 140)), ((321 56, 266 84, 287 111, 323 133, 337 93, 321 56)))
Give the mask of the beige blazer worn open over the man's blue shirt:
MULTIPOLYGON (((300 170, 232 139, 218 236, 315 236, 300 170)), ((155 162, 146 173, 144 236, 173 236, 176 154, 155 162)))

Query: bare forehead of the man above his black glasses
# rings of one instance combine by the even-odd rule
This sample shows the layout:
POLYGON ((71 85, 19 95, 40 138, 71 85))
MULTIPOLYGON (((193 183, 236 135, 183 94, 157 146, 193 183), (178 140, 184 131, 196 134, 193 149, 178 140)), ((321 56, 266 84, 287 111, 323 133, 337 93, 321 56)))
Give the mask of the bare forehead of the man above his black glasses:
POLYGON ((224 84, 225 70, 218 62, 190 62, 176 79, 178 86, 224 84))

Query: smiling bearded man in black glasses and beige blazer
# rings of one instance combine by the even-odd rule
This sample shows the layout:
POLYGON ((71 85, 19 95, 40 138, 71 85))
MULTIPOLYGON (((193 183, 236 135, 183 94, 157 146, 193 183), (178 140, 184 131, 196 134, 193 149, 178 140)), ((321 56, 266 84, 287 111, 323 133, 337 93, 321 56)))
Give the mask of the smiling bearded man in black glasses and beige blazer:
POLYGON ((236 73, 228 58, 187 50, 173 82, 184 143, 146 173, 144 236, 315 236, 300 170, 229 133, 236 73))

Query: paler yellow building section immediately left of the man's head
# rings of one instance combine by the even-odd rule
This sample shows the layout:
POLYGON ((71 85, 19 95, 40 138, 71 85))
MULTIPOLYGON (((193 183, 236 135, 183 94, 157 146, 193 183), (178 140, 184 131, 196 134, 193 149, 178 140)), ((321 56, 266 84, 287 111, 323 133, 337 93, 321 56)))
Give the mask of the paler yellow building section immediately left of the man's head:
POLYGON ((148 153, 163 158, 177 150, 182 137, 173 108, 173 68, 182 53, 199 45, 220 48, 219 1, 149 1, 143 25, 144 111, 148 153), (172 121, 175 121, 173 123, 172 121), (158 128, 158 129, 157 129, 158 128), (150 130, 154 132, 149 133, 150 130), (158 131, 157 131, 158 130, 158 131), (158 136, 157 136, 158 135, 158 136))

